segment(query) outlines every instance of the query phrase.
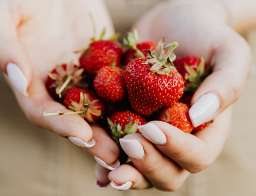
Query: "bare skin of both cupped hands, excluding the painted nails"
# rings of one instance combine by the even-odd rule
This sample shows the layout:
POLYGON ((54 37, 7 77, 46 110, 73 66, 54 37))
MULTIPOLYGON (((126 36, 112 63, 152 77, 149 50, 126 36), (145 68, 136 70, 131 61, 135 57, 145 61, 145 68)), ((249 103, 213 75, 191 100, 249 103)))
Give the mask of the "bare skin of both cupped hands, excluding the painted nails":
MULTIPOLYGON (((90 141, 93 137, 96 145, 84 150, 111 164, 119 157, 119 150, 101 127, 90 127, 78 115, 58 118, 42 116, 45 110, 56 112, 62 107, 50 98, 44 82, 47 72, 56 63, 77 58, 73 51, 90 43, 90 38, 93 37, 93 26, 88 16, 90 12, 95 17, 97 34, 106 27, 106 37, 113 35, 111 19, 99 0, 44 0, 36 3, 32 0, 9 0, 7 3, 1 1, 0 13, 6 20, 0 21, 3 27, 0 31, 0 67, 6 73, 7 63, 15 62, 26 76, 29 95, 23 96, 15 88, 13 92, 33 124, 61 137, 75 136, 84 141, 90 141), (83 9, 79 9, 81 7, 83 9), (52 17, 52 14, 56 15, 52 17), (62 20, 59 21, 58 18, 62 20)), ((243 29, 239 26, 241 21, 236 22, 235 29, 243 29)), ((201 0, 193 5, 186 0, 173 3, 167 1, 137 21, 135 26, 139 35, 142 35, 141 40, 158 41, 162 37, 166 37, 167 43, 176 40, 180 44, 176 50, 178 56, 204 56, 207 62, 214 59, 214 72, 195 93, 192 103, 207 92, 215 92, 220 98, 221 106, 215 114, 214 123, 195 135, 184 134, 169 124, 153 121, 167 137, 164 145, 155 145, 140 134, 125 136, 140 141, 145 157, 142 160, 130 158, 132 164, 122 164, 111 172, 102 170, 98 165, 96 178, 101 184, 113 181, 121 185, 132 181, 131 188, 134 189, 154 186, 160 190, 173 191, 183 184, 189 173, 204 170, 221 153, 230 132, 230 105, 241 95, 250 68, 250 48, 228 25, 223 7, 213 2, 212 10, 209 10, 201 0), (158 18, 155 26, 149 25, 154 22, 154 18, 158 18), (236 78, 236 82, 233 78, 236 78), (163 166, 166 168, 164 171, 163 166), (166 179, 165 176, 172 178, 166 179)), ((8 81, 8 76, 6 79, 8 81)))

